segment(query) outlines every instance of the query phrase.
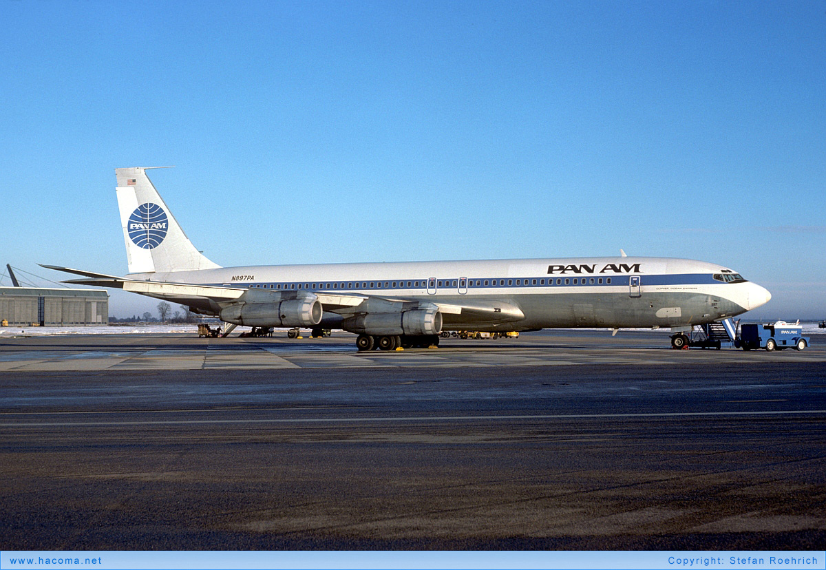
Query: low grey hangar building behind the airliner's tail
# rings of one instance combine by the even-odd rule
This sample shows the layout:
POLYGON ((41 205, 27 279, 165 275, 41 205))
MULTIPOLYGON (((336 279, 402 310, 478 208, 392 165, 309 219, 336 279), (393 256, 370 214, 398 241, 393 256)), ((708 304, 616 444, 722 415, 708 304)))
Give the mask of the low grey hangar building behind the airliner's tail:
POLYGON ((0 323, 7 326, 107 325, 109 293, 99 289, 0 287, 0 323))

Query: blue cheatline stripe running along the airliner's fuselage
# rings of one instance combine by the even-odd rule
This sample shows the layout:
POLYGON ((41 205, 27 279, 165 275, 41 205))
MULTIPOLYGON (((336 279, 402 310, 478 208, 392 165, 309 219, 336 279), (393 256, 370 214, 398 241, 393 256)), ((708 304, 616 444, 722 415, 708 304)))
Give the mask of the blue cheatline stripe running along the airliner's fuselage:
MULTIPOLYGON (((594 276, 553 276, 553 277, 528 277, 528 278, 468 278, 468 291, 478 291, 480 289, 524 289, 526 287, 617 287, 628 285, 630 275, 615 275, 611 277, 594 276), (477 285, 478 283, 478 285, 477 285)), ((714 280, 711 273, 676 273, 671 275, 639 275, 640 284, 645 287, 648 285, 721 285, 722 282, 714 280)), ((217 287, 222 287, 225 283, 210 283, 217 287)), ((411 289, 427 289, 427 279, 373 279, 358 281, 334 281, 332 279, 325 279, 324 281, 287 281, 287 282, 259 282, 247 281, 243 286, 238 283, 240 288, 257 287, 265 289, 274 289, 276 291, 297 291, 299 289, 309 291, 405 291, 411 289), (409 283, 409 284, 408 284, 409 283)), ((433 287, 430 287, 433 288, 433 287)), ((458 289, 459 280, 451 279, 437 279, 435 287, 437 290, 444 289, 458 289)), ((464 287, 462 287, 464 288, 464 287)))

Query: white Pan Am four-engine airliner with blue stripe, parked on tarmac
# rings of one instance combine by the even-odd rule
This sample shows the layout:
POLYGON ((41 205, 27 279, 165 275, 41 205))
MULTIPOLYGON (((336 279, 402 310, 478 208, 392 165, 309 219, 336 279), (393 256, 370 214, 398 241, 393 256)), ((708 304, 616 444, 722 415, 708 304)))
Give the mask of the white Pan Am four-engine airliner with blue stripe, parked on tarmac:
POLYGON ((201 254, 146 175, 115 169, 125 277, 54 265, 66 283, 118 287, 226 323, 340 328, 358 350, 439 344, 442 330, 664 328, 672 347, 694 325, 762 306, 771 293, 718 264, 605 257, 221 267, 201 254))

